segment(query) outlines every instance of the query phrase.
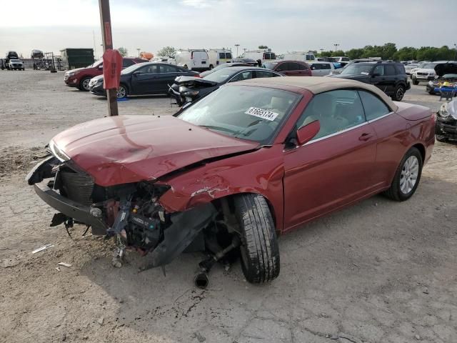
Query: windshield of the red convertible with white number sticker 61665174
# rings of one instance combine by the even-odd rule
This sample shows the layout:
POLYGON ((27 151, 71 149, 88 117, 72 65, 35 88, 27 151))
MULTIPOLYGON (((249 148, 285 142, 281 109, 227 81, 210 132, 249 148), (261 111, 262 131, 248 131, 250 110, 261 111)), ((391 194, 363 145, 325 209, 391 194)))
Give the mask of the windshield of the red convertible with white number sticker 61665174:
POLYGON ((224 86, 178 117, 220 134, 267 144, 300 98, 281 89, 224 86))

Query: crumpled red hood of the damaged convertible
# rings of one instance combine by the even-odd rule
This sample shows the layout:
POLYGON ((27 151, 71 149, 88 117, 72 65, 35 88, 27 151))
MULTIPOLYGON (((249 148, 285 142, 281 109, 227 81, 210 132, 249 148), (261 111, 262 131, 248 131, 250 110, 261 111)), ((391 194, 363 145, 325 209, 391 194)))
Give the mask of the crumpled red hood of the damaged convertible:
POLYGON ((61 132, 53 141, 104 187, 154 180, 199 161, 259 146, 174 116, 96 119, 61 132))

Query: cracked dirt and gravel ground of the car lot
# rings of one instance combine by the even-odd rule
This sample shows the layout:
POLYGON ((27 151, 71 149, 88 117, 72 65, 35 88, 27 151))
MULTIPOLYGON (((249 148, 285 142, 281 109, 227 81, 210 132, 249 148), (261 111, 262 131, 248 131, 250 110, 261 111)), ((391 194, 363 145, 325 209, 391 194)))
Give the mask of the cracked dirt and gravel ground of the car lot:
MULTIPOLYGON (((404 101, 437 109, 424 88, 404 101)), ((235 264, 200 290, 199 254, 166 277, 138 274, 134 253, 115 269, 111 242, 49 227, 54 211, 25 184, 44 144, 103 116, 104 99, 45 71, 0 71, 0 94, 0 342, 457 342, 456 144, 436 144, 408 202, 373 197, 281 237, 271 284, 248 284, 235 264)), ((173 113, 164 97, 119 109, 173 113)))

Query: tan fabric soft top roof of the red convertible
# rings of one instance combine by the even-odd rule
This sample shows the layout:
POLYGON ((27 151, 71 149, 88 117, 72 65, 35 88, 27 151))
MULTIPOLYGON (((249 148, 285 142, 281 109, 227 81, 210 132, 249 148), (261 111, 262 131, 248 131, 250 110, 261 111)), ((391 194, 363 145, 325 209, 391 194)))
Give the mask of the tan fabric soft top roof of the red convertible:
MULTIPOLYGON (((237 82, 238 83, 238 82, 237 82)), ((302 89, 307 89, 313 94, 323 93, 324 91, 333 91, 343 88, 360 88, 366 89, 378 95, 383 101, 388 104, 392 111, 397 111, 398 106, 389 98, 386 93, 371 84, 364 84, 360 81, 341 79, 337 77, 323 76, 284 76, 284 77, 266 77, 261 79, 251 79, 241 81, 243 84, 271 84, 278 86, 291 86, 302 89)))

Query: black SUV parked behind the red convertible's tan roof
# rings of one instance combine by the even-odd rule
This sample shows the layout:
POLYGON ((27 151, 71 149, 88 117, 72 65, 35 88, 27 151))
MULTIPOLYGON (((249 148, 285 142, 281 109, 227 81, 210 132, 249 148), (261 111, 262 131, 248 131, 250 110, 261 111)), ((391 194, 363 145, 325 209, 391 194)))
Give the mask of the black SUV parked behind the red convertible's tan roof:
POLYGON ((394 101, 401 101, 405 91, 411 88, 405 66, 393 61, 368 61, 348 64, 341 74, 331 77, 352 79, 373 84, 394 101))

